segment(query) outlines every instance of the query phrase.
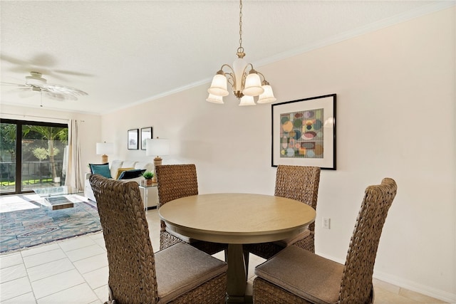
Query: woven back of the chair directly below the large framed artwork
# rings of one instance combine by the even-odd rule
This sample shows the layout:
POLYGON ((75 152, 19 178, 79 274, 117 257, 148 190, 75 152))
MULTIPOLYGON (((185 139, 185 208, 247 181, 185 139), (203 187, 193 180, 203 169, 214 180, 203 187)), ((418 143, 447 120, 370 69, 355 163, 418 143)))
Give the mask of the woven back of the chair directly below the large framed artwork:
MULTIPOLYGON (((316 209, 320 168, 304 166, 277 166, 275 196, 296 199, 316 209)), ((315 231, 315 224, 309 225, 315 231)))

